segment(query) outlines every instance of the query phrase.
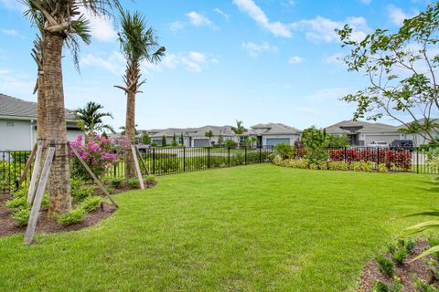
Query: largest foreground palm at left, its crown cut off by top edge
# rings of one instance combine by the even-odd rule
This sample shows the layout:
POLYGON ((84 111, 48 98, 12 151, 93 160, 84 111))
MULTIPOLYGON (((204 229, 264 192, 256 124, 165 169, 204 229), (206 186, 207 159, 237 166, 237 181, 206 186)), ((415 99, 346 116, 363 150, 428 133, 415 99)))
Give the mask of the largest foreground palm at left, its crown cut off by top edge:
POLYGON ((89 22, 80 8, 93 14, 108 14, 118 0, 23 0, 25 16, 33 24, 43 26, 42 67, 47 112, 47 141, 56 152, 48 181, 49 217, 65 214, 71 209, 70 146, 67 141, 66 112, 62 82, 61 57, 64 45, 73 53, 79 68, 79 44, 90 44, 89 22))

